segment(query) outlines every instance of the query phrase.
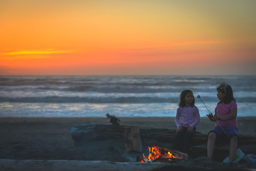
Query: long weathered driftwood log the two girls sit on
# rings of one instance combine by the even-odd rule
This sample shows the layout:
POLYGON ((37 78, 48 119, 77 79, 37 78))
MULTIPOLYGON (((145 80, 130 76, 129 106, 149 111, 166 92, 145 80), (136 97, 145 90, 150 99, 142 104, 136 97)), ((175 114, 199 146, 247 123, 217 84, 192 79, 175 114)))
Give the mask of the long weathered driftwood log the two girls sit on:
MULTIPOLYGON (((86 145, 88 142, 99 142, 111 140, 119 143, 120 147, 125 150, 125 130, 131 129, 131 125, 103 125, 87 124, 77 125, 71 129, 71 136, 76 146, 86 145)), ((139 127, 140 138, 143 146, 143 153, 149 146, 158 145, 163 148, 172 149, 172 141, 176 130, 162 128, 142 128, 139 127)), ((189 157, 207 156, 207 134, 196 132, 191 139, 189 147, 189 157)), ((239 148, 244 154, 256 154, 256 137, 240 135, 239 148)), ((229 155, 229 142, 222 139, 215 143, 213 159, 222 161, 229 155)))

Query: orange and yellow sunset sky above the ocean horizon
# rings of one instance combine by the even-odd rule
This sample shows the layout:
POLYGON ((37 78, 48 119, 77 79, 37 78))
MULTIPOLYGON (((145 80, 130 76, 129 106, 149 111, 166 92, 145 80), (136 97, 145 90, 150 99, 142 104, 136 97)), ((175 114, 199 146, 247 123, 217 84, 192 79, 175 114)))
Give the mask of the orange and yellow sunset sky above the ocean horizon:
POLYGON ((0 75, 255 75, 256 0, 1 0, 0 75))

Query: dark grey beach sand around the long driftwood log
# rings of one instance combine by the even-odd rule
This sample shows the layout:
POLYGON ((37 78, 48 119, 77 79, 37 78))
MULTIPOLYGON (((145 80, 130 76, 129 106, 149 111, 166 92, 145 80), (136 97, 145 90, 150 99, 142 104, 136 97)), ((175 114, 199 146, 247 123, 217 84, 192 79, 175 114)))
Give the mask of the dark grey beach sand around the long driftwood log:
MULTIPOLYGON (((177 129, 173 117, 120 119, 122 125, 177 129)), ((256 136, 256 117, 239 117, 237 120, 240 135, 256 136)), ((89 154, 87 151, 74 146, 70 135, 73 126, 89 123, 111 124, 107 118, 0 117, 0 159, 91 160, 91 156, 97 154, 89 154)), ((214 125, 215 123, 209 121, 208 118, 201 118, 196 131, 208 133, 214 125)), ((206 156, 202 156, 198 159, 200 161, 196 162, 201 162, 202 159, 209 162, 206 156)), ((99 160, 127 162, 125 157, 117 159, 114 155, 108 156, 108 154, 99 156, 99 160)), ((195 164, 195 159, 191 159, 187 163, 188 165, 195 164)), ((222 165, 220 162, 213 163, 222 165)), ((184 162, 181 164, 184 165, 184 162)), ((197 165, 200 164, 197 163, 197 165)), ((214 164, 211 163, 211 165, 214 164)), ((236 166, 239 168, 256 168, 255 164, 247 163, 236 164, 236 166)))

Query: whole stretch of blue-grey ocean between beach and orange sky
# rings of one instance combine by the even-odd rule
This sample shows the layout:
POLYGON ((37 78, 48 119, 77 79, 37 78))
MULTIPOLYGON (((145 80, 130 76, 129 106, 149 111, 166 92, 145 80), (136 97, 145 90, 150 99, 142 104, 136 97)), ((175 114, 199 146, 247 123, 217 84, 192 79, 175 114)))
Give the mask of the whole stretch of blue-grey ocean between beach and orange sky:
POLYGON ((0 116, 170 117, 180 92, 193 91, 201 117, 214 112, 216 88, 233 88, 238 116, 256 116, 256 75, 0 76, 0 116))

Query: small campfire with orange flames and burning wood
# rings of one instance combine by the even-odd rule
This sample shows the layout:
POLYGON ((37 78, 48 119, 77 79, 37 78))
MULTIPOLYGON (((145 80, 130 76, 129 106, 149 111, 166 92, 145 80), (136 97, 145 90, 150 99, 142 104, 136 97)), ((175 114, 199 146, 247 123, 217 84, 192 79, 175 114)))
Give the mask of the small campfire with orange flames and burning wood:
POLYGON ((170 161, 176 159, 187 159, 188 154, 182 153, 180 151, 172 151, 167 148, 161 148, 159 146, 149 147, 148 157, 137 157, 137 162, 152 162, 154 160, 170 161))

